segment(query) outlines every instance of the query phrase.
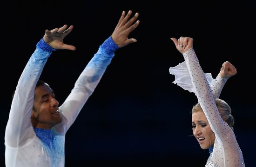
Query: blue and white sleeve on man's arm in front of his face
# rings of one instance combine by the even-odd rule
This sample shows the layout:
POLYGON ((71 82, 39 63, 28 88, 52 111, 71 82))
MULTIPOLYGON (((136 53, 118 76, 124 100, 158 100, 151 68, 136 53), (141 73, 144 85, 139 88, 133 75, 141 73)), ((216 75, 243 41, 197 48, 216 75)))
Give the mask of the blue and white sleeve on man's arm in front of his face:
MULTIPOLYGON (((61 123, 61 126, 64 127, 63 133, 67 132, 89 96, 94 92, 94 89, 114 57, 115 50, 118 48, 113 39, 109 37, 99 47, 97 53, 94 54, 94 57, 82 71, 80 77, 74 84, 73 90, 59 108, 59 111, 64 116, 64 120, 61 123)), ((55 128, 59 128, 59 131, 61 131, 60 126, 56 126, 55 128)))

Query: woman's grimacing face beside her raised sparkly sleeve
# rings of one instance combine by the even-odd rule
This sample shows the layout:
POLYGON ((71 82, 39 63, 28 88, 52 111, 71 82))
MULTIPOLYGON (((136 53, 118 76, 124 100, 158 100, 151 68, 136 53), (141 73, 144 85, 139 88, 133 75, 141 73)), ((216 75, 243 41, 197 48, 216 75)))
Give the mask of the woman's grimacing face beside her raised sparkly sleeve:
POLYGON ((203 112, 199 111, 192 114, 192 129, 193 134, 202 149, 207 149, 213 146, 215 135, 203 112))

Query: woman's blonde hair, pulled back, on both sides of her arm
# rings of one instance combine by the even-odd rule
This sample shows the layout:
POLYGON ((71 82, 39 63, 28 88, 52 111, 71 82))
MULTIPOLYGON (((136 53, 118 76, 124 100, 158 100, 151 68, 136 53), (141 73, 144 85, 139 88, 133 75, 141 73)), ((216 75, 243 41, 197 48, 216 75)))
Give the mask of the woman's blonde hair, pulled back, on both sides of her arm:
MULTIPOLYGON (((229 104, 219 98, 215 99, 215 103, 216 103, 217 109, 220 112, 222 119, 228 123, 229 127, 232 128, 232 130, 234 130, 233 126, 234 126, 235 120, 234 120, 234 117, 231 115, 231 108, 229 107, 229 104)), ((193 106, 192 114, 195 112, 203 112, 202 107, 199 103, 193 106)))

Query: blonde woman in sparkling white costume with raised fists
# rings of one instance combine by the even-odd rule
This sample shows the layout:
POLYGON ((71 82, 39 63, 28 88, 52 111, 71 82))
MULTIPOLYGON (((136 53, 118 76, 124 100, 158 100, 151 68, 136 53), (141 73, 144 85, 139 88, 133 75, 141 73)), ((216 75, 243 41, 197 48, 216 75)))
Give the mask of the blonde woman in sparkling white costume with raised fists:
POLYGON ((206 167, 244 167, 243 154, 236 141, 232 126, 234 118, 229 105, 218 99, 224 83, 236 74, 229 62, 222 64, 216 79, 204 74, 193 49, 193 39, 172 38, 185 62, 173 68, 174 83, 194 92, 198 103, 192 109, 193 134, 202 149, 209 149, 206 167))

